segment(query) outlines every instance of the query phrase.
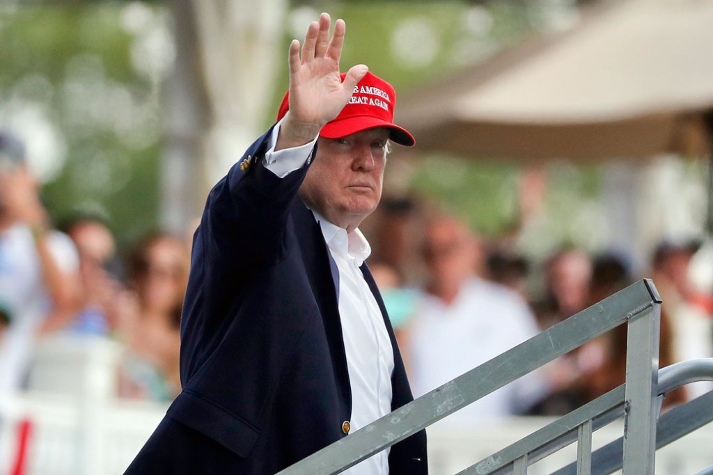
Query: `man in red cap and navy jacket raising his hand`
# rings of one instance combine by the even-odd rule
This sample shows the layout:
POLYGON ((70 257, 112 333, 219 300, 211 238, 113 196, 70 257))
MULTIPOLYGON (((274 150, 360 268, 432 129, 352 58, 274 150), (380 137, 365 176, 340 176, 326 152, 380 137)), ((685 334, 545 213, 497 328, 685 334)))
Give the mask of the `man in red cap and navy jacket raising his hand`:
MULTIPOLYGON (((379 202, 386 81, 339 74, 344 21, 289 47, 279 122, 210 192, 181 323, 183 392, 130 474, 273 474, 412 400, 357 226, 379 202), (319 139, 315 142, 316 137, 319 139)), ((352 474, 426 473, 425 432, 352 474)))

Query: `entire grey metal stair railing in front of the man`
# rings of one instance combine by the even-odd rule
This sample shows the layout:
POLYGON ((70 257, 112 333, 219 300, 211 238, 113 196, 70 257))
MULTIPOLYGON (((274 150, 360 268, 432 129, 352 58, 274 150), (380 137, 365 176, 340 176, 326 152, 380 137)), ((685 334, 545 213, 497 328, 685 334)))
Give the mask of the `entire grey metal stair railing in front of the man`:
MULTIPOLYGON (((657 434, 660 303, 653 282, 639 281, 307 456, 279 475, 338 474, 624 323, 628 325, 624 385, 468 467, 461 474, 526 474, 530 464, 574 440, 578 441, 578 459, 572 467, 565 467, 563 474, 573 471, 581 475, 610 473, 600 471, 599 466, 604 463, 600 460, 610 461, 616 451, 624 474, 652 474, 657 444, 667 437, 671 440, 682 437, 685 430, 677 427, 677 420, 687 419, 687 427, 694 427, 694 422, 705 419, 693 418, 692 414, 701 404, 710 407, 713 397, 713 392, 709 393, 685 404, 677 412, 672 411, 671 416, 665 414, 657 434), (593 453, 592 432, 622 415, 624 437, 610 444, 611 447, 605 446, 593 453), (593 466, 596 467, 594 472, 593 466)), ((702 364, 704 370, 709 364, 702 364)), ((665 380, 666 385, 672 384, 671 379, 674 383, 680 382, 679 376, 668 376, 682 374, 682 370, 676 368, 679 367, 662 370, 662 382, 665 380)))

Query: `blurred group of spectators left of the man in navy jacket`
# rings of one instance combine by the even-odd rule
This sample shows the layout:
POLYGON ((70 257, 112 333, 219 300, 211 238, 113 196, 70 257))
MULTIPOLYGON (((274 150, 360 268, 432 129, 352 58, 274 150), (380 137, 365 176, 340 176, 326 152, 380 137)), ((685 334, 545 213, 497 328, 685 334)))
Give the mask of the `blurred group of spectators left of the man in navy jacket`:
POLYGON ((190 244, 150 231, 122 255, 102 216, 51 222, 23 144, 0 133, 0 392, 25 387, 41 339, 94 336, 124 348, 120 397, 172 400, 190 244))

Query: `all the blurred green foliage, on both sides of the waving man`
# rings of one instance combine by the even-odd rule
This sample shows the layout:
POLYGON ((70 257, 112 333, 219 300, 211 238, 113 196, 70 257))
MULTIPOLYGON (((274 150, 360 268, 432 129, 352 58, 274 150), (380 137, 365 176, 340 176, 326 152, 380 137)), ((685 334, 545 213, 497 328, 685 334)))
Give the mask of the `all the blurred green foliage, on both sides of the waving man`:
MULTIPOLYGON (((327 10, 347 20, 342 65, 366 63, 403 94, 530 34, 545 17, 537 5, 548 2, 311 5, 293 5, 285 52, 307 21, 327 10)), ((168 24, 161 1, 0 9, 0 126, 33 131, 24 138, 55 219, 98 210, 123 242, 158 223, 160 88, 175 54, 168 24)), ((286 66, 285 58, 266 126, 287 88, 286 66)), ((515 219, 517 174, 513 165, 421 157, 411 189, 498 234, 515 219)))

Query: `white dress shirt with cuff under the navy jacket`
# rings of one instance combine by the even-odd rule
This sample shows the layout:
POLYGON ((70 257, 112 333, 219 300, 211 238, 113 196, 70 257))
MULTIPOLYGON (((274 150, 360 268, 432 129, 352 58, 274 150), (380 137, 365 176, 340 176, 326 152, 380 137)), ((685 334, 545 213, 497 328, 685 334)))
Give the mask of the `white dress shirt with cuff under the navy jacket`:
MULTIPOLYGON (((275 152, 279 126, 280 122, 272 131, 264 163, 267 169, 284 178, 308 163, 317 138, 307 145, 275 152)), ((332 224, 314 210, 312 213, 319 222, 324 241, 339 271, 339 318, 352 391, 351 433, 391 412, 394 349, 376 298, 359 269, 371 254, 369 242, 359 229, 347 234, 346 229, 332 224)), ((343 473, 388 474, 389 449, 343 473)))

